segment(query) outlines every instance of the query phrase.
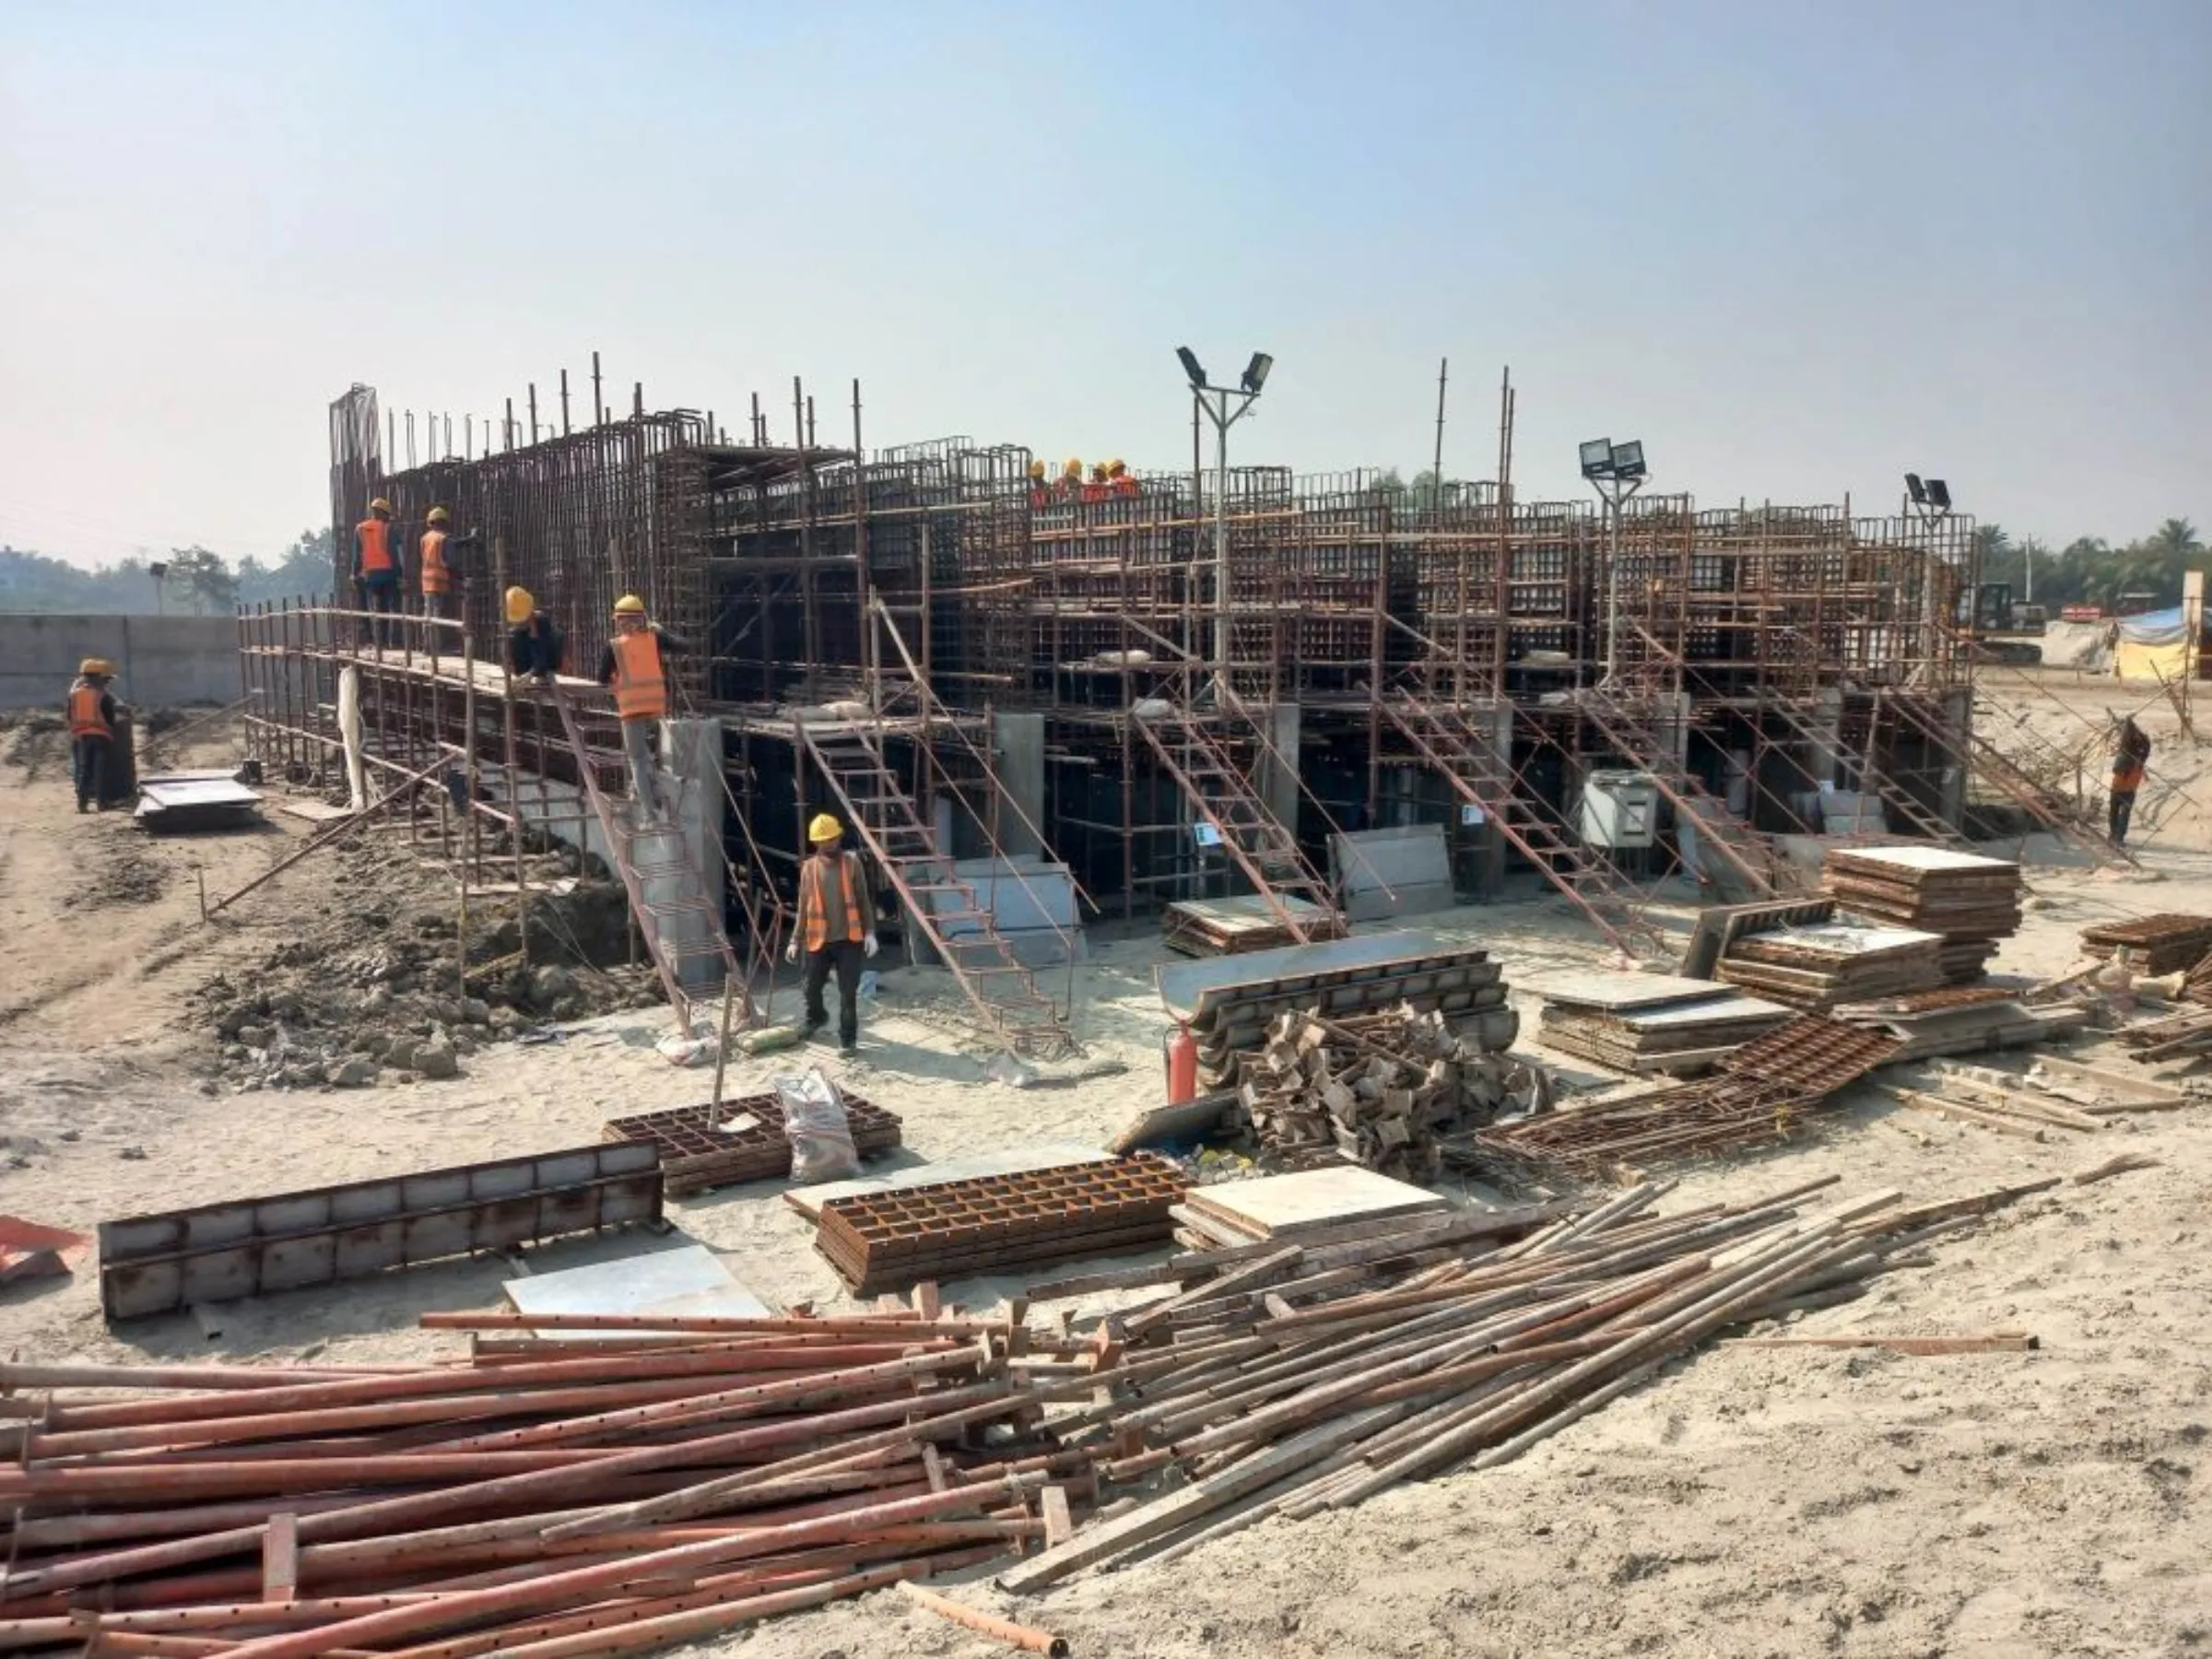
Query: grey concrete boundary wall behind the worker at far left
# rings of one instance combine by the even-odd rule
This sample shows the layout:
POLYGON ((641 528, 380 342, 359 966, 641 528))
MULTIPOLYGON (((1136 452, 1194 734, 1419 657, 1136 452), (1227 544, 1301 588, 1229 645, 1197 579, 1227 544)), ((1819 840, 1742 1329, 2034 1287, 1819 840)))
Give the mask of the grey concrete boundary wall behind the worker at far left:
POLYGON ((137 708, 239 701, 234 617, 0 615, 0 708, 60 708, 77 664, 115 664, 115 695, 137 708))

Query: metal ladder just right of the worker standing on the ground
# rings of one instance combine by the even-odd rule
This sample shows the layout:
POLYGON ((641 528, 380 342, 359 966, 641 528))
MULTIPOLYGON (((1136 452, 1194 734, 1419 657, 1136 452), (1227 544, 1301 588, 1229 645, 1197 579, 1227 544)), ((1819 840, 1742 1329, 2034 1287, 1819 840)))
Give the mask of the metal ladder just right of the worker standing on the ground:
POLYGON ((951 969, 984 1029, 1033 1060, 1079 1053, 1060 1004, 998 931, 973 883, 953 874, 914 799, 898 783, 878 734, 856 721, 799 721, 799 741, 821 768, 845 821, 938 960, 951 969))

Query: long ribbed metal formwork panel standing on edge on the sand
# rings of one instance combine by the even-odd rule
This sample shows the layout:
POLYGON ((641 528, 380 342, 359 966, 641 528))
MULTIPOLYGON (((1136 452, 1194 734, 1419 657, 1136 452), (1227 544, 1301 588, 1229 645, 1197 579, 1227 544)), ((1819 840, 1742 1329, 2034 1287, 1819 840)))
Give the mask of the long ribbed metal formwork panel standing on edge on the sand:
POLYGON ((102 1221, 100 1305, 137 1318, 659 1214, 641 1141, 208 1203, 102 1221))

